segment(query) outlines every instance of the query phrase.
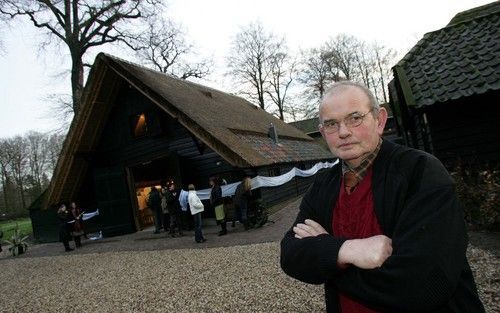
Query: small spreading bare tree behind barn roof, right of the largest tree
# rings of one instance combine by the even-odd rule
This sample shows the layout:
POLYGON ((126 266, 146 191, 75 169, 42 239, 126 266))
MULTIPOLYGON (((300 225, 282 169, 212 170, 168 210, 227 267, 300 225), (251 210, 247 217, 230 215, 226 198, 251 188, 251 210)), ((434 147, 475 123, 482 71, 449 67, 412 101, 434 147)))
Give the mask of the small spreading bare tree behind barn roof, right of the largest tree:
POLYGON ((151 19, 147 29, 127 44, 141 60, 160 72, 181 79, 203 78, 211 72, 211 60, 188 61, 195 58, 194 46, 186 42, 181 27, 170 20, 151 19))

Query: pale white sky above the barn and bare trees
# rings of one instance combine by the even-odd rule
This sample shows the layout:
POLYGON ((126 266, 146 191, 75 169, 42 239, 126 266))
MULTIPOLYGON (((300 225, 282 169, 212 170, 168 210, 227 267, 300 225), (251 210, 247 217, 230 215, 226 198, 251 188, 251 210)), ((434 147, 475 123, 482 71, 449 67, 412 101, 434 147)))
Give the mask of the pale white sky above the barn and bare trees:
MULTIPOLYGON (((260 21, 266 31, 283 35, 291 49, 319 47, 340 33, 367 42, 377 41, 402 57, 426 32, 444 27, 460 11, 491 0, 170 0, 167 15, 182 24, 197 51, 213 56, 217 68, 208 83, 227 90, 220 78, 233 36, 250 22, 260 21)), ((41 32, 27 22, 1 29, 0 138, 29 130, 57 128, 51 118, 50 94, 70 94, 69 56, 66 48, 39 52, 41 32)), ((96 55, 103 48, 91 51, 96 55), (99 50, 98 50, 99 49, 99 50)), ((125 59, 132 53, 114 52, 125 59)))

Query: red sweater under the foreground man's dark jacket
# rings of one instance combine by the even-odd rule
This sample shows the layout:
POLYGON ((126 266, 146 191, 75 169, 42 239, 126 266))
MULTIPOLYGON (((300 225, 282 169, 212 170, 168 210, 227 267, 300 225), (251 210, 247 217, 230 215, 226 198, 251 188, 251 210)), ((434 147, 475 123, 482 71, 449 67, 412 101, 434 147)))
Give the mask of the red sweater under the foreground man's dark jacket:
MULTIPOLYGON (((381 235, 382 230, 373 210, 372 169, 351 194, 344 188, 344 180, 340 186, 340 194, 333 210, 332 229, 335 237, 347 239, 368 238, 381 235)), ((339 293, 342 313, 376 313, 363 304, 339 293)))

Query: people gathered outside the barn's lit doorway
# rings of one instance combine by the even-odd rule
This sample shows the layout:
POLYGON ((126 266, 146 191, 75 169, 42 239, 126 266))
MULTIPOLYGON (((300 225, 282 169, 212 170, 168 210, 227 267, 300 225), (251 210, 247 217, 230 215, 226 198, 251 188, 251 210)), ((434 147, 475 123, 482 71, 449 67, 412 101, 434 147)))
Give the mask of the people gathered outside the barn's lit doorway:
MULTIPOLYGON (((219 236, 227 234, 226 210, 224 205, 224 197, 222 196, 222 181, 218 177, 210 177, 210 205, 215 212, 215 219, 220 225, 221 230, 219 236)), ((248 202, 252 197, 252 185, 250 177, 245 177, 237 186, 234 195, 235 214, 232 220, 232 226, 235 222, 240 221, 245 230, 249 228, 248 224, 248 202)), ((190 213, 195 232, 195 241, 197 243, 206 242, 202 232, 201 215, 205 211, 205 206, 196 194, 196 189, 193 184, 188 185, 188 194, 186 201, 180 199, 181 190, 175 187, 174 182, 169 182, 166 187, 158 190, 156 187, 151 188, 148 196, 148 206, 154 214, 155 230, 154 233, 160 233, 161 228, 165 232, 169 232, 172 237, 182 236, 183 227, 187 221, 185 213, 190 213), (185 203, 185 205, 181 205, 185 203)))

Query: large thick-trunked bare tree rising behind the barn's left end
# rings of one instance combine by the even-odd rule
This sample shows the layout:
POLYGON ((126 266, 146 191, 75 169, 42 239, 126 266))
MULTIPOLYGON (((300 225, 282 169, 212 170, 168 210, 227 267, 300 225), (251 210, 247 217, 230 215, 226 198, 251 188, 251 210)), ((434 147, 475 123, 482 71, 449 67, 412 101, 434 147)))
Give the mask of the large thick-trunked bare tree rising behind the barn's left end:
POLYGON ((78 114, 84 54, 92 47, 123 40, 127 23, 150 16, 160 6, 160 0, 3 0, 0 13, 26 17, 49 38, 55 36, 68 47, 73 111, 78 114))

